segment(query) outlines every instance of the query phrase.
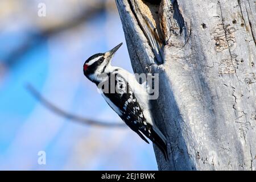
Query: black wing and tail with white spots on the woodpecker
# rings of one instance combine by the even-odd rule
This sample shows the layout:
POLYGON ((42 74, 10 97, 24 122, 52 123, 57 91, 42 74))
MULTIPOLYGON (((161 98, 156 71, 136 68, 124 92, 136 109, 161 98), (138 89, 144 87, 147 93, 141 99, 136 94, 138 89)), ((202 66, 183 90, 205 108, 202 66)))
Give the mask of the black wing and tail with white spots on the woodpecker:
MULTIPOLYGON (((133 90, 131 90, 129 83, 120 75, 115 74, 114 78, 115 93, 111 93, 110 89, 108 92, 103 93, 105 100, 131 130, 135 131, 147 143, 148 140, 144 135, 149 138, 160 148, 166 159, 168 159, 166 142, 155 132, 154 127, 150 123, 147 123, 141 106, 133 90)), ((108 83, 110 88, 111 81, 108 81, 108 83)))

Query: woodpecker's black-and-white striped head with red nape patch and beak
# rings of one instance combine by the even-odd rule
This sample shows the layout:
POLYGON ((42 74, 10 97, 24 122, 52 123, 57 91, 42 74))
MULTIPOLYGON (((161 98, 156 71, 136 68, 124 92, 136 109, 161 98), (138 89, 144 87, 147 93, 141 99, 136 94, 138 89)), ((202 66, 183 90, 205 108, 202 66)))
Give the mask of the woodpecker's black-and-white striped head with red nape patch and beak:
POLYGON ((92 82, 98 82, 98 76, 107 73, 115 52, 123 43, 105 53, 96 53, 84 63, 84 75, 92 82))

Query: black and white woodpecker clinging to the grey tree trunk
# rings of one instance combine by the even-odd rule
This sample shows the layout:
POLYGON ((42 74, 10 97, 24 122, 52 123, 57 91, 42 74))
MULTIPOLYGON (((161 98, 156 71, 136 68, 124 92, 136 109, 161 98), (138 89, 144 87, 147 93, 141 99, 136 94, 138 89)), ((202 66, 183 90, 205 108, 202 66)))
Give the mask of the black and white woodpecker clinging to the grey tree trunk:
POLYGON ((168 160, 167 140, 151 117, 150 95, 146 84, 139 84, 135 75, 111 65, 115 52, 121 46, 122 43, 108 52, 90 56, 84 63, 84 75, 98 86, 108 105, 126 125, 145 142, 149 143, 144 136, 155 143, 168 160), (111 81, 112 78, 114 81, 111 81), (108 89, 105 88, 106 86, 108 89), (117 90, 113 93, 109 92, 109 88, 117 88, 117 90))

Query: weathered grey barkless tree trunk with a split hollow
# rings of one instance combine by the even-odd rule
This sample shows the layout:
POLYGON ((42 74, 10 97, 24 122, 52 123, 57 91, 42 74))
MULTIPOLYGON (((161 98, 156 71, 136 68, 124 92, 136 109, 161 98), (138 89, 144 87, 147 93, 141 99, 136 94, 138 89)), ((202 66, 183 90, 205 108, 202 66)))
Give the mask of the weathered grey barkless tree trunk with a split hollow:
POLYGON ((159 73, 153 113, 170 160, 154 147, 158 168, 254 170, 254 0, 116 3, 134 72, 159 73))

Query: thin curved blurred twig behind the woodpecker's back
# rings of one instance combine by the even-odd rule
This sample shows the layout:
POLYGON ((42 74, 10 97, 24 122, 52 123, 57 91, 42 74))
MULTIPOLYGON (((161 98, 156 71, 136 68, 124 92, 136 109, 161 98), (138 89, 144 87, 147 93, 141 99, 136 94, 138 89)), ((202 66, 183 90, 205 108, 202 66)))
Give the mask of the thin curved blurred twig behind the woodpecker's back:
POLYGON ((86 125, 90 126, 101 126, 101 127, 124 127, 123 123, 109 123, 109 122, 101 122, 96 121, 93 119, 87 119, 80 116, 77 116, 72 113, 68 113, 67 111, 64 111, 60 109, 59 107, 53 105, 51 102, 47 101, 46 98, 42 96, 32 85, 27 84, 26 85, 27 90, 38 100, 42 105, 47 107, 47 109, 53 111, 53 113, 56 113, 58 115, 61 115, 62 117, 65 117, 67 119, 72 119, 73 121, 77 121, 86 125))

